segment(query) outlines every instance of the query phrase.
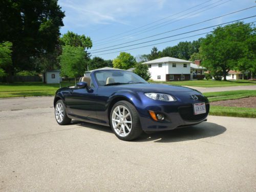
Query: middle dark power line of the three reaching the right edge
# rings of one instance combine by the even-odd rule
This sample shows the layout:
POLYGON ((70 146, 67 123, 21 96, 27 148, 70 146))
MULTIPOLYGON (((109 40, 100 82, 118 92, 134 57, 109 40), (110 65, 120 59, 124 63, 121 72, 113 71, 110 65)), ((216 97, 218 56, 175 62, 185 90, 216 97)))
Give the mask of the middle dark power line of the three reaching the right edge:
MULTIPOLYGON (((248 19, 248 18, 252 18, 252 17, 255 17, 255 16, 256 16, 256 15, 253 15, 253 16, 250 16, 250 17, 241 18, 241 19, 238 19, 238 20, 233 20, 232 22, 237 22, 237 21, 239 21, 239 20, 248 19)), ((162 37, 162 38, 158 38, 158 39, 148 40, 148 41, 140 42, 140 43, 138 43, 138 44, 133 44, 133 45, 129 45, 129 46, 123 46, 123 47, 118 47, 118 48, 113 48, 113 49, 108 49, 108 50, 103 50, 103 51, 96 51, 96 52, 93 52, 93 53, 100 53, 100 52, 105 52, 105 51, 112 51, 112 50, 121 49, 121 48, 125 48, 125 47, 131 47, 131 46, 146 44, 147 42, 152 42, 152 41, 156 41, 156 40, 166 39, 166 38, 170 38, 170 37, 174 37, 174 36, 178 36, 178 35, 184 35, 184 34, 187 34, 187 33, 192 33, 192 32, 196 32, 196 31, 201 31, 201 30, 204 30, 204 29, 209 29, 209 28, 212 28, 212 27, 216 27, 216 26, 220 26, 220 25, 229 24, 229 23, 232 23, 232 22, 226 22, 226 23, 222 23, 222 24, 219 24, 219 25, 214 25, 214 26, 210 26, 210 27, 205 27, 205 28, 201 28, 201 29, 196 29, 196 30, 193 30, 193 31, 188 31, 188 32, 184 32, 184 33, 179 33, 179 34, 172 35, 172 36, 167 36, 167 37, 162 37)), ((92 53, 92 54, 93 54, 93 53, 92 53)))

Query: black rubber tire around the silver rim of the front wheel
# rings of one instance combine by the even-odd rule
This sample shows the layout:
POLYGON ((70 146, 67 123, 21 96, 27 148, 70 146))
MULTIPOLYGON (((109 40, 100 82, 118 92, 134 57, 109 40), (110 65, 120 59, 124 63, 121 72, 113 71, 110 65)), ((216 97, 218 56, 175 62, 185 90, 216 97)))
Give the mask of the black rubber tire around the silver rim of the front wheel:
POLYGON ((139 115, 138 115, 138 112, 137 110, 135 109, 135 106, 133 104, 131 104, 130 102, 127 102, 127 101, 118 101, 116 102, 113 107, 112 107, 112 110, 111 110, 111 113, 110 113, 110 124, 111 124, 111 129, 112 131, 115 133, 115 135, 121 139, 121 140, 124 140, 124 141, 131 141, 131 140, 134 140, 136 138, 138 138, 142 133, 142 129, 141 129, 141 125, 140 125, 140 119, 139 119, 139 115), (132 119, 132 126, 131 126, 131 131, 130 133, 125 136, 125 137, 122 137, 122 136, 119 136, 116 131, 114 130, 114 127, 113 127, 113 122, 112 122, 112 114, 113 114, 113 111, 114 109, 118 106, 118 105, 122 105, 122 106, 125 106, 125 108, 130 112, 131 114, 131 119, 132 119))

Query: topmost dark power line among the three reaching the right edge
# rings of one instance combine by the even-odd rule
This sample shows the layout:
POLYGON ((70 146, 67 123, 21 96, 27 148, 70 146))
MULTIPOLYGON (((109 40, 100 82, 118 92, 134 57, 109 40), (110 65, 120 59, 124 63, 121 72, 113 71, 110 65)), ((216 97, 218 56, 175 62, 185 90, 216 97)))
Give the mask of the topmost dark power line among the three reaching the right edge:
POLYGON ((173 29, 173 30, 170 30, 170 31, 163 32, 163 33, 158 33, 158 34, 147 36, 147 37, 144 37, 144 38, 123 42, 122 44, 118 44, 118 45, 114 45, 114 46, 109 46, 109 47, 104 47, 104 48, 100 48, 100 49, 95 49, 95 50, 92 50, 92 52, 98 51, 98 50, 102 50, 102 49, 108 49, 108 48, 111 48, 111 47, 116 47, 116 46, 120 46, 120 45, 124 45, 124 44, 129 44, 130 42, 135 42, 135 41, 138 41, 138 40, 142 40, 142 39, 146 39, 146 38, 162 35, 162 34, 165 34, 165 33, 177 31, 177 30, 180 30, 180 29, 184 29, 184 28, 187 28, 187 27, 191 27, 191 26, 194 26, 194 25, 198 25, 198 24, 202 24, 202 23, 208 22, 209 20, 214 20, 214 19, 217 19, 217 18, 220 18, 220 17, 223 17, 223 16, 227 16, 227 15, 231 15, 231 14, 238 13, 238 12, 241 12, 241 11, 245 11, 245 10, 251 9, 253 7, 256 7, 256 6, 248 7, 248 8, 241 9, 241 10, 238 10, 238 11, 234 11, 234 12, 231 12, 231 13, 227 13, 227 14, 224 14, 224 15, 221 15, 221 16, 218 16, 218 17, 214 17, 214 18, 210 18, 210 19, 207 19, 207 20, 203 20, 202 22, 198 22, 198 23, 191 24, 191 25, 188 25, 188 26, 180 27, 180 28, 177 28, 177 29, 173 29))

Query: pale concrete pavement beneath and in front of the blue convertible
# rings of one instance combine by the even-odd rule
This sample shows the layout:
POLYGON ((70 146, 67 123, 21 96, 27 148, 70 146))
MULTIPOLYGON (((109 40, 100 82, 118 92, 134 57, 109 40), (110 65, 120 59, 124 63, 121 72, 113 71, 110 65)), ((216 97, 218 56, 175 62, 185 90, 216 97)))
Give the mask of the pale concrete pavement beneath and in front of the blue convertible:
POLYGON ((125 142, 58 125, 52 101, 0 99, 0 191, 256 191, 256 119, 209 116, 125 142))

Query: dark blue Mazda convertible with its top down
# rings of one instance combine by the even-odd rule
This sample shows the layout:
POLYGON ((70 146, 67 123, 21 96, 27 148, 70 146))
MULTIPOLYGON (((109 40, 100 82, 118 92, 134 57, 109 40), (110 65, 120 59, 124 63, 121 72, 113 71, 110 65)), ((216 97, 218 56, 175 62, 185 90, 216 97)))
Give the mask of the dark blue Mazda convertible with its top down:
POLYGON ((209 101, 200 92, 148 83, 125 70, 94 70, 75 87, 61 88, 54 98, 60 125, 72 119, 111 126, 122 140, 143 131, 164 131, 206 121, 209 101))

